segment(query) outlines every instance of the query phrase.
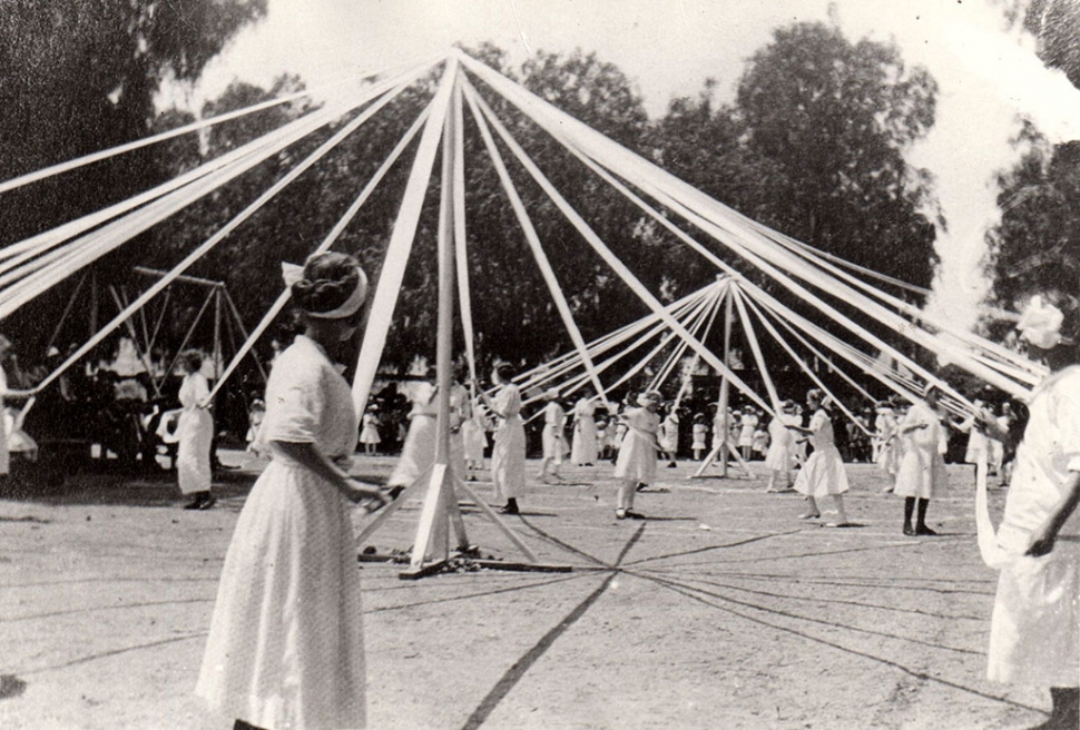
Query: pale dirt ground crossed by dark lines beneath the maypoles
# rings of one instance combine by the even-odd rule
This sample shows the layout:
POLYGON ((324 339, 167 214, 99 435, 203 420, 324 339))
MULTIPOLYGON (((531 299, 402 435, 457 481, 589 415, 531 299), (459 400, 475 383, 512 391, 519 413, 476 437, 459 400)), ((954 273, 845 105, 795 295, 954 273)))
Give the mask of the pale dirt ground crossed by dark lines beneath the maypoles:
MULTIPOLYGON (((0 500, 0 728, 216 730, 192 696, 222 561, 261 464, 224 473, 213 510, 171 481, 69 479, 0 500)), ((354 473, 383 480, 386 457, 354 473)), ((420 581, 364 563, 369 727, 377 730, 1022 728, 1049 697, 985 680, 995 575, 973 486, 951 467, 937 537, 901 534, 903 504, 850 465, 857 526, 799 521, 798 495, 660 468, 616 521, 610 465, 533 483, 507 523, 569 573, 484 570, 420 581)), ((530 470, 534 463, 530 463, 530 470)), ((531 473, 531 472, 530 472, 531 473)), ((710 474, 715 474, 713 470, 710 474)), ((732 473, 733 475, 735 472, 732 473)), ((477 482, 490 496, 487 476, 477 482)), ((1003 493, 992 495, 1000 509, 1003 493)), ((470 504, 471 542, 513 545, 470 504)), ((826 515, 827 516, 827 515, 826 515)), ((420 503, 375 533, 412 544, 420 503)), ((357 515, 362 526, 371 517, 357 515)))

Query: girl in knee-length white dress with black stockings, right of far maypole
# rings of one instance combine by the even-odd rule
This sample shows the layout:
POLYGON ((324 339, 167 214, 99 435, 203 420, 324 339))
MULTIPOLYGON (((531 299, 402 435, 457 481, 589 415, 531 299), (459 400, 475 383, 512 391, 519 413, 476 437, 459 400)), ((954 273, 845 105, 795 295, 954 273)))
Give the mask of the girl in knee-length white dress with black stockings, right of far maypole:
POLYGON ((922 403, 913 403, 896 427, 904 444, 904 455, 896 471, 893 493, 904 497, 904 534, 936 535, 926 526, 926 507, 934 494, 945 487, 945 460, 939 445, 943 426, 937 414, 937 388, 929 386, 922 403), (917 506, 915 526, 911 517, 917 506))

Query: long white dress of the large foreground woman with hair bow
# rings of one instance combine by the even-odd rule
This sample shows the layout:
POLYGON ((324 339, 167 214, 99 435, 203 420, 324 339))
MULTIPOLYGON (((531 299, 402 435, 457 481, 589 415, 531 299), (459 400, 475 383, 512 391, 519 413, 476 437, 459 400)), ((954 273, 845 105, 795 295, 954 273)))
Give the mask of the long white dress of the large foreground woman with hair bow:
POLYGON ((272 461, 225 556, 196 693, 262 728, 363 728, 364 643, 348 502, 275 442, 343 460, 356 447, 348 384, 300 336, 275 361, 259 430, 272 461))

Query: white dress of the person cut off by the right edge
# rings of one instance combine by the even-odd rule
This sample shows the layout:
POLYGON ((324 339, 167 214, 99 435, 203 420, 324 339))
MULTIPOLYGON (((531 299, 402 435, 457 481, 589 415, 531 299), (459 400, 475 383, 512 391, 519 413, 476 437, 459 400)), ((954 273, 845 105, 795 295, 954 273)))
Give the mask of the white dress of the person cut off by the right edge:
POLYGON ((999 682, 1076 687, 1080 680, 1080 516, 1073 514, 1053 550, 1027 558, 1032 532, 1080 472, 1080 366, 1051 375, 1030 404, 1031 417, 998 531, 1013 555, 998 579, 988 675, 999 682))

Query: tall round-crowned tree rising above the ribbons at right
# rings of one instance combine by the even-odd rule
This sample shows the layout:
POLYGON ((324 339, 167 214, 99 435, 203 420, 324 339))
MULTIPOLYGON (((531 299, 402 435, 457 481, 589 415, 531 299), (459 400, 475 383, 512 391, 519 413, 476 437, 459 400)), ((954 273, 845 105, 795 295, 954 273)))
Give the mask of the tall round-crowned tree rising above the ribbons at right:
POLYGON ((755 53, 737 96, 747 146, 777 165, 782 231, 883 274, 929 286, 929 177, 904 151, 934 121, 937 86, 900 51, 836 27, 795 23, 755 53))

